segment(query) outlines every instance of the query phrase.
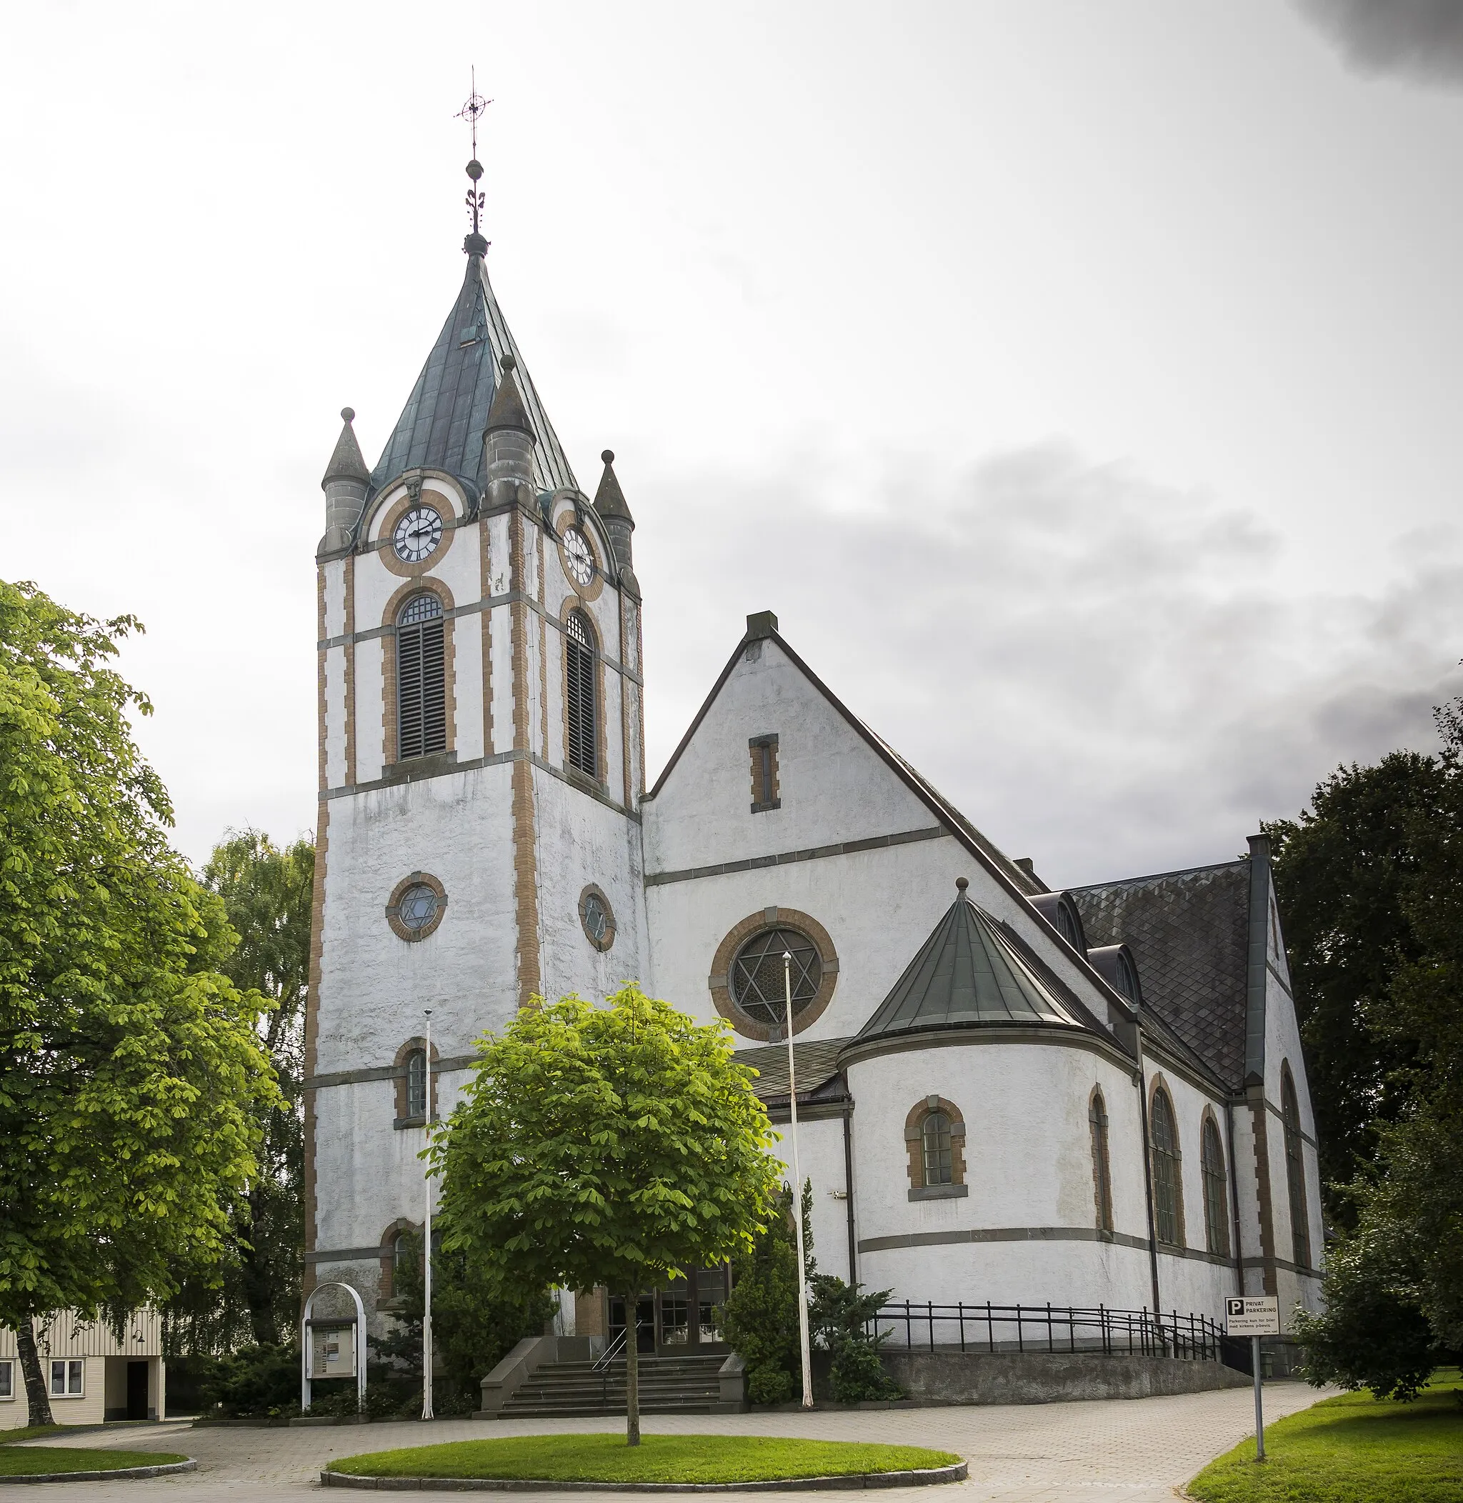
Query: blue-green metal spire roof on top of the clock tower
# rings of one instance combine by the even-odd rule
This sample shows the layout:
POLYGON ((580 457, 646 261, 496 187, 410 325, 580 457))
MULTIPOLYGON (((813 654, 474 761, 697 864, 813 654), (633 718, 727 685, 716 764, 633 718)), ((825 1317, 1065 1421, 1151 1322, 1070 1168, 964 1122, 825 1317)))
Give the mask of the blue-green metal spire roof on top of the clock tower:
POLYGON ((574 472, 493 296, 487 266, 477 254, 468 257, 468 275, 453 311, 371 470, 376 490, 403 470, 423 466, 478 481, 483 430, 498 385, 498 362, 504 355, 513 355, 517 362, 516 379, 537 436, 535 484, 540 490, 564 485, 577 490, 574 472))

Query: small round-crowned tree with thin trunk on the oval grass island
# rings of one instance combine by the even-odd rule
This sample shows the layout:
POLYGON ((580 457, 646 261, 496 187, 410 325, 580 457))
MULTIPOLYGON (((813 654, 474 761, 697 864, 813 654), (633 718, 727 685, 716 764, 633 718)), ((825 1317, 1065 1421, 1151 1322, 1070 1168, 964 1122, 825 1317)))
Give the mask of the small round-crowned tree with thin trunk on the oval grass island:
POLYGON ((622 1293, 625 1441, 641 1441, 635 1309, 681 1270, 743 1255, 777 1186, 771 1127, 725 1024, 630 984, 535 998, 480 1045, 432 1147, 444 1252, 508 1287, 622 1293))

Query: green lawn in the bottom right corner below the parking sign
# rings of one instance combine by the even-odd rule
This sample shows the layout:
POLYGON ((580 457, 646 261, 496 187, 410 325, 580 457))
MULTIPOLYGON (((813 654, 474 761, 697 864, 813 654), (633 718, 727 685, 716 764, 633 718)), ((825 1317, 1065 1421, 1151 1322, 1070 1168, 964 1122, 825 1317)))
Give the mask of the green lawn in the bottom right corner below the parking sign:
POLYGON ((1343 1393, 1265 1426, 1189 1483, 1201 1503, 1458 1503, 1463 1404, 1458 1371, 1439 1372, 1415 1404, 1343 1393))

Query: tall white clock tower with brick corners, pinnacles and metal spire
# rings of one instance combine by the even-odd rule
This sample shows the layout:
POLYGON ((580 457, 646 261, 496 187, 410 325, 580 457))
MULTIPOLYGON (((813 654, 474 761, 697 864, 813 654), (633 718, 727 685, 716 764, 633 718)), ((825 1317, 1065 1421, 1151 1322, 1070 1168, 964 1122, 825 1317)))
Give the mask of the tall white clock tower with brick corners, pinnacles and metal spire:
POLYGON ((635 522, 609 451, 579 490, 508 332, 481 171, 466 275, 380 458, 347 407, 322 482, 305 1287, 344 1279, 368 1311, 475 1040, 647 954, 635 522))

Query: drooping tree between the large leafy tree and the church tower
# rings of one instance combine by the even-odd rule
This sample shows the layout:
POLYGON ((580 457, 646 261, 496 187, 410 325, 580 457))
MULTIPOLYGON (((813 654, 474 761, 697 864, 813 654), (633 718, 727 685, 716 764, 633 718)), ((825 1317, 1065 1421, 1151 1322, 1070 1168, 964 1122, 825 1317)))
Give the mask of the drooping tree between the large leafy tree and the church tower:
POLYGON ((168 1306, 168 1345, 179 1351, 290 1339, 305 1247, 301 1081, 314 846, 302 837, 280 848, 259 830, 232 830, 214 848, 203 881, 223 899, 238 935, 220 969, 241 992, 272 1004, 262 1013, 260 1039, 283 1094, 260 1108, 259 1174, 229 1198, 220 1275, 185 1281, 168 1306))

